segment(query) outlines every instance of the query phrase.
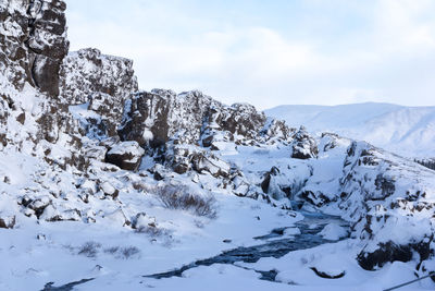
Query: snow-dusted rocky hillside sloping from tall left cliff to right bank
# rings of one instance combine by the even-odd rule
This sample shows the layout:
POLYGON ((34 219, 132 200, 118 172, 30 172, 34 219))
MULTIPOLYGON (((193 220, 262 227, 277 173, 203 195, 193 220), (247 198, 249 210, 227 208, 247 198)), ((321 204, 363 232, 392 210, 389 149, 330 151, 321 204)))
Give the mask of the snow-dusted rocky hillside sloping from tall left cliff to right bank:
POLYGON ((183 184, 194 201, 233 195, 294 216, 295 205, 340 216, 362 268, 400 260, 427 274, 435 171, 364 142, 311 136, 250 105, 138 92, 130 60, 66 54, 64 10, 60 0, 0 3, 2 235, 75 221, 182 240, 167 216, 147 213, 163 185, 183 184))

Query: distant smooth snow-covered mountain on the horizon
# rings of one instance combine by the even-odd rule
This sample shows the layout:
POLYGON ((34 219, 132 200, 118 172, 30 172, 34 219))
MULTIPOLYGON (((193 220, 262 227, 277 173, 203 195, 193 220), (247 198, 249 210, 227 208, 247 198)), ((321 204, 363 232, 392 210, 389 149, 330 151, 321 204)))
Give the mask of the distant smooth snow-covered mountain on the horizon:
POLYGON ((334 132, 407 157, 435 157, 435 106, 393 104, 284 105, 264 111, 290 126, 334 132))

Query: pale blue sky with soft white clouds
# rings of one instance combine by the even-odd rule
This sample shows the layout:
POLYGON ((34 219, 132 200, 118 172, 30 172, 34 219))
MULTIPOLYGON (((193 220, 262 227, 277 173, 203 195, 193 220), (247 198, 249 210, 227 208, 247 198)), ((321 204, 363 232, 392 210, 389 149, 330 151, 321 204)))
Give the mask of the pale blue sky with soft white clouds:
POLYGON ((225 104, 435 105, 433 0, 66 0, 71 50, 225 104))

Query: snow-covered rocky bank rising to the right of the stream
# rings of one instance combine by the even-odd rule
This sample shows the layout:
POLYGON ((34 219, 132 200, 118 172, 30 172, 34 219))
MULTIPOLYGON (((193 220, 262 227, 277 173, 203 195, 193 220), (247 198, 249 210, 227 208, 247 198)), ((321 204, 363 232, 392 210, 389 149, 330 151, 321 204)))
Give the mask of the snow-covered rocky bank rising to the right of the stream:
POLYGON ((435 195, 435 185, 421 181, 431 181, 433 172, 362 142, 353 142, 347 154, 337 202, 345 217, 357 221, 355 229, 366 243, 358 256, 360 265, 374 269, 408 262, 414 253, 426 259, 433 252, 435 209, 426 199, 435 195))

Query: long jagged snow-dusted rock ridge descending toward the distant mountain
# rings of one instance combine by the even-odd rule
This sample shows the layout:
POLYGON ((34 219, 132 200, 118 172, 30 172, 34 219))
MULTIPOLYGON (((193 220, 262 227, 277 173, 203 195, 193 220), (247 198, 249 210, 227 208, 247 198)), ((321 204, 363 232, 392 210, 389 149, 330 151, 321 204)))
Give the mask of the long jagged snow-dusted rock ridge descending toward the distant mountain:
POLYGON ((124 112, 121 138, 154 148, 169 141, 204 147, 216 141, 254 145, 272 137, 289 140, 291 132, 284 124, 268 122, 250 105, 225 106, 200 92, 142 92, 126 102, 124 112))

